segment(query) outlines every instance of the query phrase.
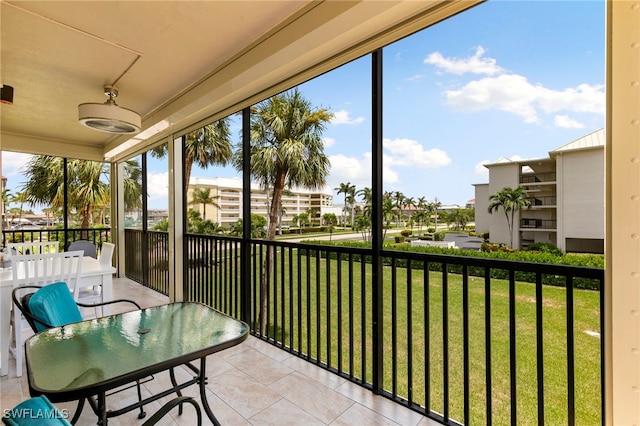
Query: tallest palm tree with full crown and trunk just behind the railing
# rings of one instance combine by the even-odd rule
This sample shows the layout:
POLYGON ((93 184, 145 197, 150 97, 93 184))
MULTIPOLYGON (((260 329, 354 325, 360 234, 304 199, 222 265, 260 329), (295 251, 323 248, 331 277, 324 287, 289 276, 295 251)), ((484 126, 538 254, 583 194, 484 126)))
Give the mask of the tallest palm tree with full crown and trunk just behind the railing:
MULTIPOLYGON (((333 114, 314 108, 297 89, 261 102, 251 114, 251 177, 263 188, 271 189, 267 239, 276 236, 278 216, 285 188, 317 189, 325 185, 329 157, 324 153, 322 132, 333 114)), ((242 146, 233 163, 242 170, 242 146)), ((273 263, 273 247, 267 250, 261 279, 260 330, 267 326, 267 276, 273 263)))

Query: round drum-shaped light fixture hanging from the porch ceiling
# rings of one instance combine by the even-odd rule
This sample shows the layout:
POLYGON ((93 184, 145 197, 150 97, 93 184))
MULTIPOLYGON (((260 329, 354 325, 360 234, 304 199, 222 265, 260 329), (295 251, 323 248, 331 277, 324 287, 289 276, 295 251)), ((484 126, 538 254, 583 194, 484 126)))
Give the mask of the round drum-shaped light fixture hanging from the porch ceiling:
POLYGON ((78 105, 78 120, 80 124, 107 133, 138 133, 142 127, 140 115, 116 104, 118 89, 104 86, 104 94, 109 100, 103 104, 78 105))

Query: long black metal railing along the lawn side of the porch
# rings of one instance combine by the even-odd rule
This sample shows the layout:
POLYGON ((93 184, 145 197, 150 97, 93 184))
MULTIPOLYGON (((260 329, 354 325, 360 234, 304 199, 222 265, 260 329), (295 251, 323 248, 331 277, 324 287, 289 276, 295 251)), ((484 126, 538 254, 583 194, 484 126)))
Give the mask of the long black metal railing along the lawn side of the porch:
POLYGON ((189 300, 439 423, 604 424, 602 269, 383 250, 376 283, 370 249, 185 243, 189 300))

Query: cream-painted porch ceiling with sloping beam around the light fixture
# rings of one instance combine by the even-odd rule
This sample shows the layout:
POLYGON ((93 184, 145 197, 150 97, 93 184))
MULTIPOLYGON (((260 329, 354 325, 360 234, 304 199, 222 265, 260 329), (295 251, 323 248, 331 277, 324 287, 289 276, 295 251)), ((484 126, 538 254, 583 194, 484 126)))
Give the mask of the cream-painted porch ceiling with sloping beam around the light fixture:
POLYGON ((1 0, 0 148, 102 160, 276 91, 477 1, 1 0), (81 126, 78 104, 137 111, 143 132, 81 126), (146 131, 145 131, 146 129, 146 131))

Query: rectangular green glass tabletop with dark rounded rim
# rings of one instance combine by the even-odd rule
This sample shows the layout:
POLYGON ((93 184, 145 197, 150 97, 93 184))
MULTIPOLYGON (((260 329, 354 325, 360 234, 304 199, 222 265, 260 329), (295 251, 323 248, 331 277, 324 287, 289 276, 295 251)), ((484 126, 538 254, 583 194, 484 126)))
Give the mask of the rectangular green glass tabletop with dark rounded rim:
POLYGON ((53 328, 25 344, 29 390, 54 402, 90 397, 198 358, 204 361, 244 341, 248 332, 246 323, 193 302, 53 328))

